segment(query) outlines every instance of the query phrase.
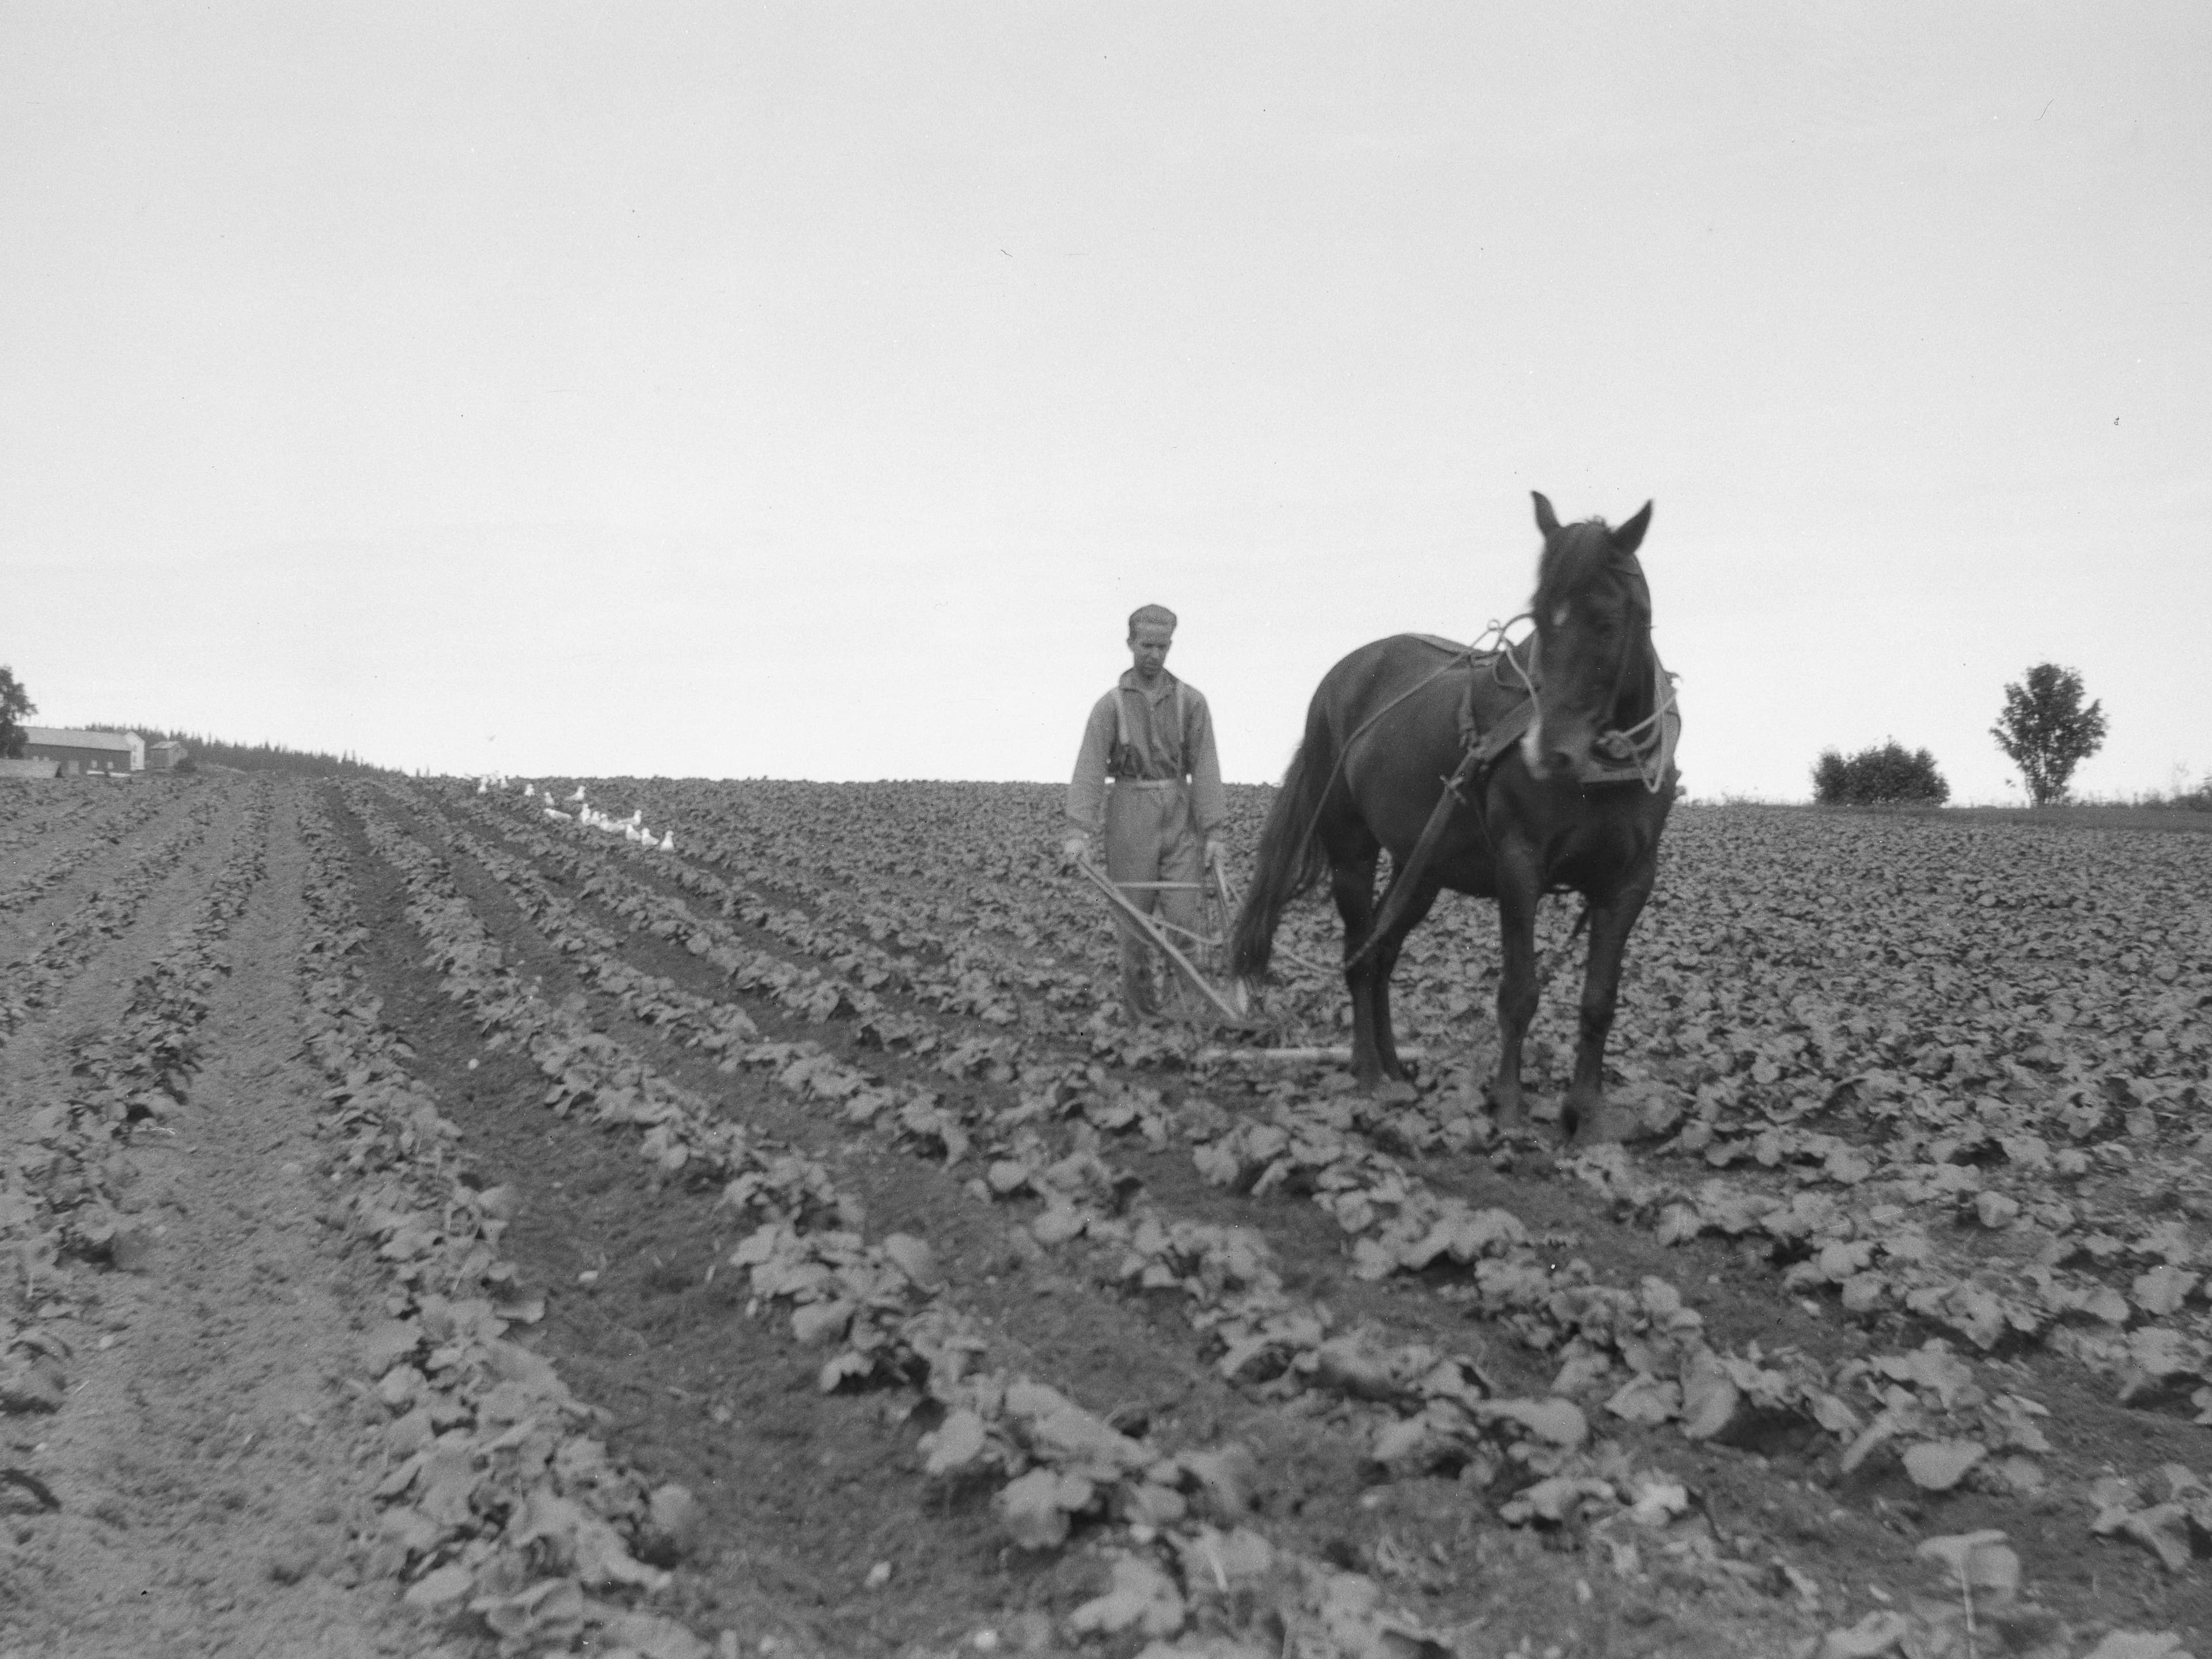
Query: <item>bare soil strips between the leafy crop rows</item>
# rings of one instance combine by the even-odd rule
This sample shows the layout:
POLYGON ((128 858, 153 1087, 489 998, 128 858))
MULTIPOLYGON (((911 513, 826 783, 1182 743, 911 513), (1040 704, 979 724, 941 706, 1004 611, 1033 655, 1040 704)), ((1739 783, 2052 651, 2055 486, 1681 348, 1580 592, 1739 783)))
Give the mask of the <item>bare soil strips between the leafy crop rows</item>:
MULTIPOLYGON (((942 1301, 987 1332, 987 1360, 1048 1383, 1161 1453, 1243 1444, 1259 1489, 1248 1520, 1285 1557, 1356 1571, 1458 1655, 1767 1655, 1812 1652, 1827 1630, 1902 1606, 1924 1582, 1916 1546, 1980 1526, 2006 1531, 2028 1582, 2079 1650, 2104 1628, 2212 1630, 2212 1593, 2168 1575, 2148 1551, 2090 1544, 2079 1489, 2106 1469, 2205 1464, 2203 1429, 2174 1411, 2121 1407, 2106 1383, 2048 1354, 2013 1360, 2020 1389, 2053 1409, 2051 1498, 2000 1502, 1920 1493, 1900 1475, 1845 1478, 1832 1449, 1776 1436, 1688 1444, 1624 1429, 1641 1469, 1683 1482, 1699 1548, 1644 1573, 1610 1571, 1575 1528, 1506 1526, 1495 1500, 1447 1478, 1383 1480, 1367 1460, 1376 1409, 1281 1387, 1232 1385, 1172 1301, 1117 1283, 1110 1252, 1040 1248, 1035 1203, 993 1199, 973 1164, 942 1164, 776 1088, 761 1071, 721 1071, 628 1013, 518 907, 456 830, 513 854, 520 843, 465 794, 349 790, 201 776, 139 790, 0 785, 0 962, 31 962, 104 891, 166 856, 128 922, 95 933, 40 1006, 0 1040, 0 1157, 11 1194, 42 1179, 35 1113, 71 1095, 88 1048, 115 1031, 146 964, 173 945, 243 836, 263 836, 261 876, 210 951, 206 1011, 181 1099, 133 1121, 104 1177, 133 1250, 40 1259, 9 1237, 13 1352, 46 1354, 64 1378, 53 1409, 11 1409, 0 1471, 0 1659, 31 1655, 491 1655, 482 1621, 409 1604, 420 1566, 378 1553, 394 1458, 394 1407, 378 1398, 369 1334, 394 1312, 394 1283, 349 1221, 352 1177, 325 1128, 330 1079, 303 1051, 299 969, 307 856, 303 810, 327 810, 345 838, 363 938, 352 956, 383 1026, 400 1033, 411 1075, 460 1130, 471 1181, 511 1192, 498 1239, 522 1290, 544 1298, 535 1356, 599 1416, 611 1458, 648 1489, 677 1484, 699 1504, 679 1544, 639 1535, 672 1568, 646 1606, 697 1639, 666 1652, 759 1655, 1130 1655, 1137 1632, 1077 1641, 1075 1606, 1106 1588, 1115 1540, 1077 1533, 1057 1551, 1015 1548, 975 1482, 931 1480, 922 1436, 938 1416, 914 1389, 825 1394, 823 1349, 750 1296, 728 1261, 752 1223, 714 1183, 664 1177, 635 1130, 546 1110, 540 1071, 489 1042, 451 1000, 407 914, 400 872, 363 834, 385 814, 447 860, 473 916, 546 1002, 591 1022, 668 1082, 799 1155, 818 1159, 860 1208, 867 1239, 929 1241, 942 1301), (265 807, 263 818, 257 807, 265 807), (192 834, 195 812, 206 818, 192 834), (104 841, 104 836, 111 836, 104 841), (181 843, 179 843, 181 838, 181 843), (82 852, 91 845, 91 852, 82 852), (60 858, 62 847, 71 849, 60 858), (51 872, 51 878, 49 878, 51 872), (22 883, 42 883, 35 891, 22 883), (29 894, 29 896, 22 896, 29 894), (51 1338, 24 1347, 24 1334, 51 1338), (1776 1566, 1785 1564, 1787 1571, 1776 1566), (1803 1575, 1803 1584, 1790 1573, 1803 1575)), ((940 1091, 989 1117, 1020 1086, 951 1079, 933 1055, 863 1046, 852 1022, 812 1022, 739 998, 679 940, 633 931, 557 867, 538 874, 588 920, 622 936, 644 973, 741 1002, 763 1040, 816 1042, 876 1077, 940 1091)), ((624 867, 630 869, 628 865, 624 867)), ((644 872, 659 891, 684 898, 644 872)), ((695 902, 695 900, 686 900, 695 902)), ((752 949, 792 956, 765 929, 734 925, 752 949)), ((1048 951, 1040 953, 1048 956, 1048 951)), ((1106 949, 1097 951, 1104 984, 1106 949)), ((889 995, 889 993, 887 993, 889 995)), ((891 998, 947 1044, 1002 1026, 891 998)), ((1055 1042, 1031 1037, 1033 1042, 1055 1042)), ((1075 1053, 1075 1046, 1068 1046, 1075 1053)), ((1077 1055, 1077 1057, 1088 1057, 1077 1055)), ((1137 1079, 1137 1077, 1133 1077, 1137 1079)), ((1192 1106, 1172 1073, 1150 1073, 1170 1115, 1192 1106)), ((1259 1084, 1208 1084, 1212 1106, 1256 1115, 1259 1084)), ((1442 1283, 1352 1274, 1343 1232, 1312 1201, 1208 1186, 1181 1144, 1115 1144, 1113 1164, 1144 1203, 1175 1219, 1248 1228, 1298 1298, 1340 1327, 1467 1354, 1500 1394, 1544 1396, 1557 1356, 1471 1321, 1442 1283)), ((1865 1332, 1787 1294, 1734 1245, 1661 1250, 1617 1221, 1544 1157, 1500 1168, 1478 1152, 1418 1157, 1422 1177, 1473 1206, 1502 1206, 1557 1239, 1606 1283, 1666 1274, 1717 1343, 1790 1345, 1838 1358, 1865 1332)), ((1900 1332, 1909 1336, 1909 1332, 1900 1332)), ((1918 1340, 1918 1338, 1913 1338, 1918 1340)), ((11 1396, 13 1400, 13 1396, 11 1396)), ((615 1626, 584 1644, 611 1650, 615 1626)), ((1402 1652, 1413 1652, 1413 1646, 1402 1652)), ((2073 1652, 2075 1648, 2053 1648, 2073 1652)), ((1316 1650, 1318 1652, 1318 1650, 1316 1650)))

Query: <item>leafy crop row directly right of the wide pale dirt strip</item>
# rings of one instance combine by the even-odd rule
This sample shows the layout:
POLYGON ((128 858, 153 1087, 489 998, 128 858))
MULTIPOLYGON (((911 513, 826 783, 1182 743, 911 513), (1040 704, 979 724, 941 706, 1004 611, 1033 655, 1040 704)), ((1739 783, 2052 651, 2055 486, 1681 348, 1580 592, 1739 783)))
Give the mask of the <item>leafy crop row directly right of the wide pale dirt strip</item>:
POLYGON ((349 1225, 389 1283, 387 1318, 363 1347, 389 1418, 374 1438, 383 1513, 363 1566, 405 1577, 405 1599, 431 1617, 471 1613, 511 1648, 588 1632, 633 1659, 703 1659, 692 1632, 624 1606, 666 1586, 637 1553, 681 1535, 695 1504, 611 1460, 593 1409, 509 1340, 544 1314, 500 1256, 511 1192, 467 1164, 460 1130, 378 1018, 354 960, 349 856, 319 803, 303 807, 301 838, 305 1048, 330 1079, 319 1133, 349 1225))

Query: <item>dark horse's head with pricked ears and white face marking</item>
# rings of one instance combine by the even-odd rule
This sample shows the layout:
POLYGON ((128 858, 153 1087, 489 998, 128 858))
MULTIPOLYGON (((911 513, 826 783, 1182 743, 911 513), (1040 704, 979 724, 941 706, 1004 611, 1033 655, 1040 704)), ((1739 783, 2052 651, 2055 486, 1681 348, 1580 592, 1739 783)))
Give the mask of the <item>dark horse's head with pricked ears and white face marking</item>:
POLYGON ((1597 518, 1562 526, 1551 502, 1535 498, 1544 553, 1528 611, 1544 690, 1522 759, 1537 779, 1575 776, 1621 703, 1650 684, 1652 593, 1637 564, 1650 522, 1652 504, 1644 502, 1619 529, 1597 518))

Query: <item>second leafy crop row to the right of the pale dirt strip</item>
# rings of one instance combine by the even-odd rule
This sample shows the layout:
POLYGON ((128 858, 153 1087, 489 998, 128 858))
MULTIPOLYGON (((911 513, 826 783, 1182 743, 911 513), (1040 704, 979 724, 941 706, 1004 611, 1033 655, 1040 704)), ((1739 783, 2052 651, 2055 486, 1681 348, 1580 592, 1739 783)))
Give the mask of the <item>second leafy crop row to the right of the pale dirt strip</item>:
POLYGON ((666 1175, 719 1183, 723 1203, 757 1223, 732 1263, 745 1267, 763 1307, 790 1314, 794 1336, 832 1349, 825 1385, 922 1389, 940 1418, 925 1440, 931 1473, 995 1489, 1018 1544, 1053 1546, 1077 1517, 1128 1540, 1117 1588, 1075 1613, 1079 1630, 1144 1624, 1166 1635, 1186 1617, 1228 1619, 1237 1606, 1250 1610, 1256 1579, 1296 1586, 1290 1610, 1305 1606, 1305 1617, 1347 1617, 1343 1575, 1290 1559, 1245 1522, 1234 1453, 1157 1451, 1046 1385, 987 1369, 984 1329, 945 1303, 927 1241, 889 1234, 867 1243, 849 1225, 858 1206, 834 1190, 818 1161, 719 1119, 624 1044, 549 1006, 504 967, 442 860, 383 818, 365 790, 349 799, 378 856, 407 885, 409 920, 431 940, 447 993, 495 1040, 531 1055, 549 1077, 549 1104, 646 1126, 644 1157, 666 1175), (1186 1573, 1201 1564, 1212 1575, 1186 1573))

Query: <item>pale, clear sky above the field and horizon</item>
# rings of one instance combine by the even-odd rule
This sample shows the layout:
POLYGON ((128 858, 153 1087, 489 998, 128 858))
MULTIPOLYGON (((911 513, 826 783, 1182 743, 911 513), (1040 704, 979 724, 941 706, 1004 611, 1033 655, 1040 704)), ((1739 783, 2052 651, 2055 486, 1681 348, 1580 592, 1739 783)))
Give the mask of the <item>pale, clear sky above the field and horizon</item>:
POLYGON ((2212 772, 2201 4, 0 4, 0 664, 431 772, 1232 781, 1655 502, 1697 799, 2212 772))

